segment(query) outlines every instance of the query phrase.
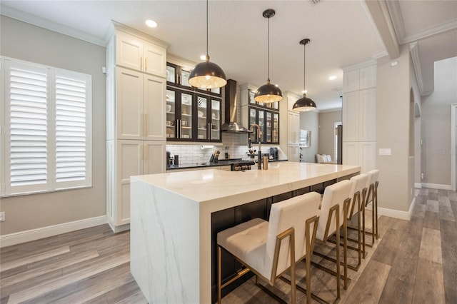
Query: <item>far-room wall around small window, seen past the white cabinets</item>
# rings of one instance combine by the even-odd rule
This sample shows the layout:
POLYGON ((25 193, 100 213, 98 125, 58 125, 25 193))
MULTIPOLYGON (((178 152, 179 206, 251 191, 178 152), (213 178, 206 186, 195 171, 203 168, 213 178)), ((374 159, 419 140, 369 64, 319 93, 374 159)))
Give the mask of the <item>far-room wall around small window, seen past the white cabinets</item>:
POLYGON ((301 149, 302 160, 306 163, 316 163, 316 153, 319 148, 319 113, 300 112, 300 129, 311 131, 311 147, 301 149))

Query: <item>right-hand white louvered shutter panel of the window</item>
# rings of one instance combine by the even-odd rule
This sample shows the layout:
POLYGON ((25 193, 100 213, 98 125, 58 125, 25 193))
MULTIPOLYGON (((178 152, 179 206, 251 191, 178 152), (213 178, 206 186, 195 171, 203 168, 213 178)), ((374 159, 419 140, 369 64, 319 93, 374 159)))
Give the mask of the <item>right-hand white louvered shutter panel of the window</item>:
MULTIPOLYGON (((86 77, 56 71, 55 133, 57 188, 88 179, 88 88, 86 77)), ((90 103, 89 103, 90 104, 90 103)))

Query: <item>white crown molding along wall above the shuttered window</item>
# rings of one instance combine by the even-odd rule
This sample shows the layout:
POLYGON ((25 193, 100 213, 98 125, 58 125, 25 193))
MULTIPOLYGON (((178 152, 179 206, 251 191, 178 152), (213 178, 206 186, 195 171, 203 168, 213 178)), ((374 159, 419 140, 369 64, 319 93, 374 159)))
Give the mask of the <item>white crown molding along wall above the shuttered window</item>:
POLYGON ((73 29, 69 26, 64 26, 63 24, 58 24, 56 22, 40 18, 38 16, 24 13, 24 11, 19 11, 3 4, 0 4, 0 14, 12 19, 26 22, 28 24, 32 24, 34 26, 39 26, 43 29, 55 31, 59 34, 64 34, 66 36, 84 40, 90 42, 91 44, 106 47, 106 41, 103 38, 86 33, 84 31, 79 31, 78 29, 73 29))

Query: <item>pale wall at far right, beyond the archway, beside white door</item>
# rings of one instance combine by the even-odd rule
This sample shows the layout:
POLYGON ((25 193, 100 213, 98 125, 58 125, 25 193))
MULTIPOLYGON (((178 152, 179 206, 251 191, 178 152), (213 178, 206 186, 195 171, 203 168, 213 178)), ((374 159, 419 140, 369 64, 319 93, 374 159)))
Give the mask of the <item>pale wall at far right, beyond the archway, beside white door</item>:
POLYGON ((423 183, 451 186, 451 103, 457 103, 457 57, 436 61, 435 90, 422 98, 423 183))

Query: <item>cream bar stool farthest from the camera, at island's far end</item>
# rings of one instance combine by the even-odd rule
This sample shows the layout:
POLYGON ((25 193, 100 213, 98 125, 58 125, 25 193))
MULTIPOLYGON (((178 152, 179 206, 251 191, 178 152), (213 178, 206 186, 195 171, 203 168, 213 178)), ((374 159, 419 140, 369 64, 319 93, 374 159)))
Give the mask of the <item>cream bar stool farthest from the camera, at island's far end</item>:
MULTIPOLYGON (((378 239, 378 185, 379 185, 379 170, 371 170, 366 173, 368 180, 366 187, 368 188, 365 201, 365 209, 371 203, 371 231, 366 231, 363 234, 371 235, 371 244, 366 243, 368 247, 373 247, 374 240, 378 239)), ((365 227, 365 214, 363 214, 363 227, 365 227)))

